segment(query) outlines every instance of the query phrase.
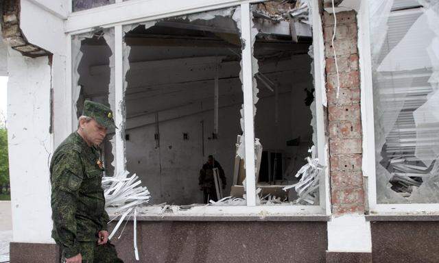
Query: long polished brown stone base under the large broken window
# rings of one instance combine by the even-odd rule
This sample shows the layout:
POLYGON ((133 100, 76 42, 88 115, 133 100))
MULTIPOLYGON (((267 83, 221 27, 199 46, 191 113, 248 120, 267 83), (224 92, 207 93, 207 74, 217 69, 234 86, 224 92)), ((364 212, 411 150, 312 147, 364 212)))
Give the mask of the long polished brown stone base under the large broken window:
MULTIPOLYGON (((328 247, 326 222, 138 224, 140 262, 148 263, 324 263, 328 247)), ((132 234, 128 222, 112 240, 124 262, 135 262, 132 234)))

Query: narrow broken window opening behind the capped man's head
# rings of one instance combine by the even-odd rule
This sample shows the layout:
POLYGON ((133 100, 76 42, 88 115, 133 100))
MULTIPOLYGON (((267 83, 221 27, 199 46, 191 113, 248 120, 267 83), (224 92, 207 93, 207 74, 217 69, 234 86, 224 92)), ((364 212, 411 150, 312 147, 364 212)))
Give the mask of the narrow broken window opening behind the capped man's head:
MULTIPOLYGON (((85 100, 103 103, 115 110, 114 43, 112 28, 72 36, 73 129, 78 125, 85 100)), ((108 140, 102 145, 106 175, 114 173, 114 134, 114 130, 109 130, 108 140)))

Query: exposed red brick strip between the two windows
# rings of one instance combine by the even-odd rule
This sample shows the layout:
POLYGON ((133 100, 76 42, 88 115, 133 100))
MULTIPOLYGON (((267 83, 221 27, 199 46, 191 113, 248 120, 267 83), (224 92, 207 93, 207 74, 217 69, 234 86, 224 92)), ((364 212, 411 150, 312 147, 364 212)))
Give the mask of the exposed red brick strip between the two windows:
POLYGON ((357 52, 356 13, 337 13, 334 46, 340 76, 337 99, 337 74, 331 39, 334 17, 323 16, 327 61, 327 99, 332 212, 364 214, 364 187, 361 173, 361 112, 357 52))

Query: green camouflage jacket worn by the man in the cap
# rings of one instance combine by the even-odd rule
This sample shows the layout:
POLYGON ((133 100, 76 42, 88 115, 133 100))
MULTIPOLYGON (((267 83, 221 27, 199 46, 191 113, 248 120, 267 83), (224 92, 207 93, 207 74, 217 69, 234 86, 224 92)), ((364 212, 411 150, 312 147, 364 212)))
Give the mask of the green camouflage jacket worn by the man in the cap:
POLYGON ((80 241, 97 241, 97 233, 107 227, 98 160, 99 151, 88 147, 77 132, 61 143, 51 159, 52 238, 67 258, 80 253, 80 241))

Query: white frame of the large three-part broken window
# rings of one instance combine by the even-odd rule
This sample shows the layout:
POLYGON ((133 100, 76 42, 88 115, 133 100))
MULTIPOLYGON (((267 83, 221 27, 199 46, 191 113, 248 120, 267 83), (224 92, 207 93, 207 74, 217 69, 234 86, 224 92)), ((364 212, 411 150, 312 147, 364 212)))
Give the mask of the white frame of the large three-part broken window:
MULTIPOLYGON (((71 0, 69 0, 71 1, 71 0)), ((254 117, 252 103, 252 51, 250 45, 246 45, 242 51, 243 58, 243 92, 244 92, 244 136, 246 140, 245 156, 249 168, 246 169, 246 188, 248 189, 247 206, 200 206, 186 211, 178 211, 174 216, 298 216, 298 215, 324 215, 331 214, 329 201, 329 168, 328 168, 328 145, 324 127, 324 106, 326 106, 326 89, 324 82, 324 42, 320 12, 318 12, 318 0, 313 1, 313 54, 314 54, 314 76, 316 90, 316 121, 318 138, 318 156, 320 164, 326 166, 320 180, 320 205, 256 205, 256 182, 254 179, 254 117)), ((234 6, 241 7, 241 37, 250 43, 250 3, 261 2, 261 0, 117 0, 116 3, 105 5, 91 10, 70 13, 65 22, 67 34, 67 77, 66 86, 68 90, 71 107, 69 113, 72 118, 71 130, 75 123, 73 114, 74 103, 72 101, 72 57, 71 39, 75 34, 90 32, 93 27, 110 28, 115 30, 115 123, 121 127, 123 116, 120 105, 123 102, 123 25, 133 23, 154 21, 159 18, 181 16, 186 14, 206 12, 221 8, 234 6), (121 12, 123 10, 123 12, 121 12)), ((115 135, 115 173, 125 170, 124 140, 121 130, 115 135)), ((151 215, 158 215, 158 210, 151 209, 151 215)))

